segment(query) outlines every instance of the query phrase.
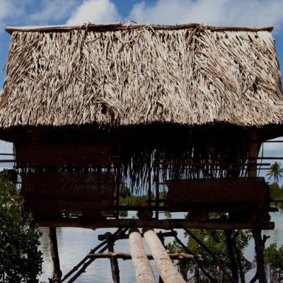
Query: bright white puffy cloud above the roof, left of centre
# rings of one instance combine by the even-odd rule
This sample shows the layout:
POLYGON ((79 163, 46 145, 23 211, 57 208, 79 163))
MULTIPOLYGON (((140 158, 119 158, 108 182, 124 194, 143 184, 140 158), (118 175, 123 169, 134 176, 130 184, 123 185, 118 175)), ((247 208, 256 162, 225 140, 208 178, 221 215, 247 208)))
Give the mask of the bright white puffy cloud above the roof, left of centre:
POLYGON ((67 24, 116 23, 118 21, 120 21, 120 15, 112 1, 87 0, 76 8, 67 24))

